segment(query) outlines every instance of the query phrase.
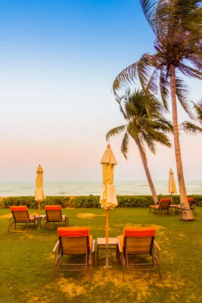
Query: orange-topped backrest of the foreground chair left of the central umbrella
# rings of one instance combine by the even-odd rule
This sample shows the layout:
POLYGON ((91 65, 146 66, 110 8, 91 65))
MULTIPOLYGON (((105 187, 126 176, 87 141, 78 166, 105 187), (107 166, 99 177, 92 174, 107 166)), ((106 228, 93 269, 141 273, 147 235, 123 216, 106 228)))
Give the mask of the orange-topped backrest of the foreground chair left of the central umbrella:
POLYGON ((59 227, 59 241, 64 255, 85 255, 89 252, 89 227, 59 227))

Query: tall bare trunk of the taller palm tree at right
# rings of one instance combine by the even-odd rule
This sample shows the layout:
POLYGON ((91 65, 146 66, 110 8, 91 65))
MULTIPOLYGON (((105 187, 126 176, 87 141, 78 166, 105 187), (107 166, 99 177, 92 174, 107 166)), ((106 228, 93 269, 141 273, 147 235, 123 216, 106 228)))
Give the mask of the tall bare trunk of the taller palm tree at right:
POLYGON ((172 98, 175 159, 176 159, 177 176, 178 176, 178 183, 180 190, 180 208, 181 208, 180 219, 183 221, 188 221, 188 220, 194 220, 194 218, 187 200, 186 187, 185 187, 183 168, 182 168, 178 119, 177 119, 176 76, 175 76, 175 66, 173 64, 170 65, 170 90, 171 90, 171 98, 172 98))

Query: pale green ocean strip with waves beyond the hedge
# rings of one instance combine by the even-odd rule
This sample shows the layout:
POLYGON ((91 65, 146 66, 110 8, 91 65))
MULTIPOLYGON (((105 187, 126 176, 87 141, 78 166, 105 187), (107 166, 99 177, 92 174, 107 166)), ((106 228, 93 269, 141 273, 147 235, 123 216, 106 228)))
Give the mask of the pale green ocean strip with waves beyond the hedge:
MULTIPOLYGON (((154 181, 157 194, 168 194, 168 180, 154 181)), ((114 181, 119 195, 150 195, 146 181, 114 181)), ((43 182, 45 195, 99 195, 102 181, 50 181, 43 182)), ((202 194, 202 181, 186 181, 187 194, 202 194)), ((33 182, 0 182, 0 196, 34 195, 33 182)), ((179 189, 177 187, 179 193, 179 189)))

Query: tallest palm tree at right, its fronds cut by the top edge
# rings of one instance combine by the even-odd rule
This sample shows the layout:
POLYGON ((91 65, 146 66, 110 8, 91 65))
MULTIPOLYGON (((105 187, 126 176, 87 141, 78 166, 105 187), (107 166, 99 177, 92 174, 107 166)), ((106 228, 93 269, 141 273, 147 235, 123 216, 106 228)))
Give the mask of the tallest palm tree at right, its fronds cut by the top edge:
MULTIPOLYGON (((193 220, 184 182, 177 117, 178 98, 183 109, 193 118, 188 91, 181 74, 202 79, 202 7, 201 0, 140 0, 143 13, 156 35, 156 53, 142 55, 139 61, 124 69, 115 79, 117 90, 139 78, 147 94, 160 94, 166 110, 171 95, 175 158, 180 191, 181 220, 193 220)), ((147 105, 147 112, 150 107, 147 105)))

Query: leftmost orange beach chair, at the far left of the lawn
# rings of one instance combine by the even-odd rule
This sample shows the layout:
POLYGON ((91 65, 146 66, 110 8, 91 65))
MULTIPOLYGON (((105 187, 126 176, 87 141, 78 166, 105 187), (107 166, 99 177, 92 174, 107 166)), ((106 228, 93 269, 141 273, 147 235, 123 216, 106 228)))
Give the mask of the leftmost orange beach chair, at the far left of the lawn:
POLYGON ((29 223, 34 223, 35 227, 35 221, 38 220, 38 218, 36 218, 35 215, 29 215, 27 206, 10 206, 10 209, 13 216, 9 218, 9 231, 10 227, 13 225, 15 226, 16 230, 17 223, 24 223, 24 227, 27 227, 27 231, 29 223))

